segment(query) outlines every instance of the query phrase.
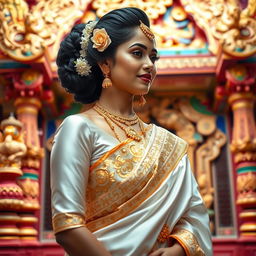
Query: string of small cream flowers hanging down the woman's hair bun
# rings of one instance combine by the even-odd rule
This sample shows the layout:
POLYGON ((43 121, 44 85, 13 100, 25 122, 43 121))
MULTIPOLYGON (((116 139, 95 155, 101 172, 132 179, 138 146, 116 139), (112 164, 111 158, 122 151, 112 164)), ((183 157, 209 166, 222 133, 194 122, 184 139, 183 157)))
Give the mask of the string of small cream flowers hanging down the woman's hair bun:
POLYGON ((81 37, 81 50, 80 57, 75 61, 76 72, 81 76, 88 76, 91 73, 91 65, 89 65, 86 60, 86 52, 88 47, 89 37, 92 34, 92 31, 97 24, 97 21, 91 21, 88 23, 82 32, 81 37))

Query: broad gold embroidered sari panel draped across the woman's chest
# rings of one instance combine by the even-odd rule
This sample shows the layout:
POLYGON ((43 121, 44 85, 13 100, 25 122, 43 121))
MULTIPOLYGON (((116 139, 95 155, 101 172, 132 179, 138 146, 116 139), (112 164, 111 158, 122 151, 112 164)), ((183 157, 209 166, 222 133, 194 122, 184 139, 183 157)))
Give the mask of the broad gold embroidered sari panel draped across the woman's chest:
POLYGON ((148 145, 131 141, 91 170, 86 192, 86 226, 92 232, 136 209, 157 190, 186 153, 186 142, 160 127, 153 128, 146 138, 148 145), (96 179, 99 169, 109 173, 104 185, 96 179))

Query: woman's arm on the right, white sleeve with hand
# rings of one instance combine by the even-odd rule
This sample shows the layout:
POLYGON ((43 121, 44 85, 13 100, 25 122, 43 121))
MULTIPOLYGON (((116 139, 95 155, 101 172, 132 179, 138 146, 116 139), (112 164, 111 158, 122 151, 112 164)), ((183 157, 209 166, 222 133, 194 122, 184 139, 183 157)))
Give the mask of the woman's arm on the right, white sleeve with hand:
POLYGON ((183 157, 178 168, 173 172, 172 178, 174 183, 172 187, 173 197, 176 202, 166 224, 169 223, 171 226, 173 219, 177 219, 177 217, 178 221, 172 227, 169 236, 171 246, 158 249, 150 256, 211 256, 212 243, 209 217, 187 156, 183 157), (183 249, 182 252, 180 247, 183 249))

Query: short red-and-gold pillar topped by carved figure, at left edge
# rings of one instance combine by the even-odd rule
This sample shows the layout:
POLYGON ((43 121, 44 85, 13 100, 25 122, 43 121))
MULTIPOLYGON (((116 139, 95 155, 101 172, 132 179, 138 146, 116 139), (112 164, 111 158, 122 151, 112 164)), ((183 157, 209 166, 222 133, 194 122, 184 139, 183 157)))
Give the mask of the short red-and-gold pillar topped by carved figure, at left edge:
POLYGON ((10 116, 1 122, 0 132, 0 244, 19 240, 23 191, 17 184, 22 176, 21 158, 27 148, 23 141, 22 123, 10 116))

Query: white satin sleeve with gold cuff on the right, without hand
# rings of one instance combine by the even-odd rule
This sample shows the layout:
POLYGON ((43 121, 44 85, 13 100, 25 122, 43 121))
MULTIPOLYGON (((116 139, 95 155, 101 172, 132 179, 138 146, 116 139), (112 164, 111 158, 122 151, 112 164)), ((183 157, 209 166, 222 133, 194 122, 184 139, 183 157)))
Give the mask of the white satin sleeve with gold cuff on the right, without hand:
MULTIPOLYGON (((209 216, 198 190, 197 182, 191 171, 187 155, 183 157, 181 169, 176 180, 179 198, 183 198, 179 210, 183 212, 174 226, 170 239, 177 240, 189 256, 212 255, 212 242, 209 216)), ((176 209, 178 210, 178 209, 176 209)))

